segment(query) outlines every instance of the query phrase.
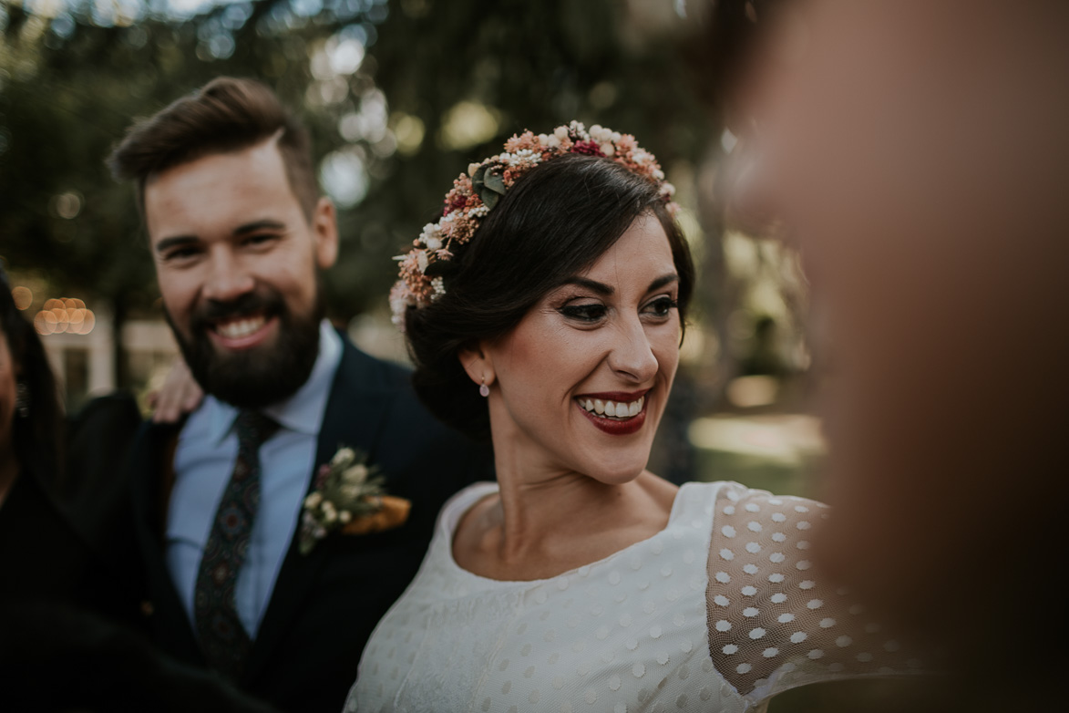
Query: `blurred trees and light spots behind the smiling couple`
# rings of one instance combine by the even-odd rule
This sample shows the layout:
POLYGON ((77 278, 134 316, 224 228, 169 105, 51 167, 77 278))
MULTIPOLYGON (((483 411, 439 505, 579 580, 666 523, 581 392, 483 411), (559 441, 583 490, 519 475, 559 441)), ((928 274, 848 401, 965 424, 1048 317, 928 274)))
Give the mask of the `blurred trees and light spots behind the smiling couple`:
MULTIPOLYGON (((577 119, 634 134, 677 186, 699 266, 651 469, 811 495, 805 284, 775 241, 728 228, 735 144, 717 106, 710 0, 6 0, 0 2, 0 257, 68 412, 142 398, 176 353, 131 187, 104 158, 134 118, 217 75, 274 87, 311 130, 339 207, 330 317, 403 360, 386 295, 398 254, 469 161, 577 119)), ((738 2, 737 15, 750 3, 738 2)), ((856 688, 852 686, 852 688, 856 688)), ((865 710, 879 686, 846 700, 865 710)), ((774 711, 827 710, 822 688, 774 711)), ((842 700, 842 699, 840 699, 842 700)))

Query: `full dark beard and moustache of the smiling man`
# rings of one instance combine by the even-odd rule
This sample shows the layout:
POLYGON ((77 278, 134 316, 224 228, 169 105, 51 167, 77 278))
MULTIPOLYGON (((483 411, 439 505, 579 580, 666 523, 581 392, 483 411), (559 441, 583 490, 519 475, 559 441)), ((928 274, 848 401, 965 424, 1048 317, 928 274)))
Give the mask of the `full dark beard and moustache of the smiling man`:
POLYGON ((311 314, 295 314, 275 290, 258 289, 229 303, 208 301, 189 319, 190 338, 167 322, 189 371, 205 392, 238 408, 263 408, 297 392, 312 373, 320 352, 320 322, 325 314, 322 285, 316 285, 311 314), (208 329, 219 320, 263 314, 278 317, 273 346, 228 351, 216 347, 208 329))

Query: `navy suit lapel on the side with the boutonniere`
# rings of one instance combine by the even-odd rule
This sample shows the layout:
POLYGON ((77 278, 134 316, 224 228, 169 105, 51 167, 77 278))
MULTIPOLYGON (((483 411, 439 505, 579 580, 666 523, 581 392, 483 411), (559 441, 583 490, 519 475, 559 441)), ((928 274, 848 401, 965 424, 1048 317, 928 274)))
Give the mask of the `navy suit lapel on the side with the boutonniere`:
MULTIPOLYGON (((374 383, 371 369, 374 361, 358 352, 344 335, 342 343, 342 358, 323 415, 309 491, 315 485, 314 470, 329 462, 342 446, 362 451, 370 462, 375 461, 375 445, 392 400, 389 390, 374 383)), ((299 521, 297 527, 300 527, 299 521)), ((326 561, 327 553, 327 547, 316 546, 309 554, 301 555, 294 532, 249 654, 244 676, 246 680, 257 675, 293 618, 303 606, 309 605, 306 601, 309 589, 326 561)))

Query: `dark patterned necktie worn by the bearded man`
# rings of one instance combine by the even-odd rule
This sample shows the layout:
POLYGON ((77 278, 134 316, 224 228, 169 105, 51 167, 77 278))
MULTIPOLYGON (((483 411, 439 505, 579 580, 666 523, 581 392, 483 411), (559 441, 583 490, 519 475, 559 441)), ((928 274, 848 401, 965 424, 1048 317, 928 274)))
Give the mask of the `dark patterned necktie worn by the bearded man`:
POLYGON ((234 429, 237 431, 237 462, 219 500, 215 524, 201 556, 193 593, 193 618, 208 665, 236 679, 252 641, 237 616, 234 585, 249 548, 249 534, 260 506, 260 446, 278 430, 278 423, 258 412, 242 410, 234 429))

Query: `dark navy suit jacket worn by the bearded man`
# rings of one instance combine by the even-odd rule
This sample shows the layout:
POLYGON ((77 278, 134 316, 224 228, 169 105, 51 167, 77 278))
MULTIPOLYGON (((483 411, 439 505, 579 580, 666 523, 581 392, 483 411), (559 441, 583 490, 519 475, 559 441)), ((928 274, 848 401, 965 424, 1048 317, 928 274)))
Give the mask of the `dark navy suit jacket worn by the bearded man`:
MULTIPOLYGON (((334 532, 301 555, 294 537, 237 681, 285 711, 341 711, 360 653, 378 619, 415 576, 445 500, 464 485, 493 478, 487 447, 438 423, 417 401, 408 371, 363 354, 344 338, 327 401, 316 465, 341 446, 368 454, 391 495, 412 501, 392 530, 334 532)), ((171 582, 162 539, 176 427, 146 425, 129 467, 135 539, 152 640, 181 661, 204 666, 197 637, 171 582)))

